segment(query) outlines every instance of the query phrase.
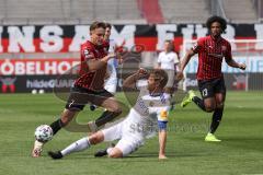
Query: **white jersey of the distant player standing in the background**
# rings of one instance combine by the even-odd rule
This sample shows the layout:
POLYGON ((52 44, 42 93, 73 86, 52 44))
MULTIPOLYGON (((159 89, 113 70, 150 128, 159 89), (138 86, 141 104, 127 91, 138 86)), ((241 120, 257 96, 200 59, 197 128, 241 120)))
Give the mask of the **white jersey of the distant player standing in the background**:
POLYGON ((178 55, 174 51, 161 51, 158 56, 158 63, 161 63, 161 69, 174 70, 174 65, 179 63, 178 55))

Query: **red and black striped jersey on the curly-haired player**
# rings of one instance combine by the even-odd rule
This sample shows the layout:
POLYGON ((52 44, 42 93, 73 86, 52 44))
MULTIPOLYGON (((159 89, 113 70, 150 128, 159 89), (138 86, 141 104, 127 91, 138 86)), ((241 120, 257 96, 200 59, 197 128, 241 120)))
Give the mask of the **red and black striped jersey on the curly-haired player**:
POLYGON ((226 61, 232 59, 231 45, 222 37, 217 39, 210 35, 202 37, 192 49, 198 54, 197 80, 221 78, 222 59, 226 61))

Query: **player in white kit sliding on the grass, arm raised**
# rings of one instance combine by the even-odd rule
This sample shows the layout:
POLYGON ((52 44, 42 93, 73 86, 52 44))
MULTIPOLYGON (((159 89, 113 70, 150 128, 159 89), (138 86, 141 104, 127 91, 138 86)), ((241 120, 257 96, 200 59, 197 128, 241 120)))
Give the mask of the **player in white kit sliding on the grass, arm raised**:
MULTIPOLYGON (((139 88, 140 92, 136 104, 123 121, 102 129, 90 137, 84 137, 61 151, 49 151, 48 155, 53 159, 61 159, 72 152, 85 150, 92 144, 118 139, 119 141, 115 147, 107 148, 105 151, 110 158, 123 158, 136 151, 144 144, 146 138, 155 133, 157 122, 167 120, 170 105, 170 95, 163 93, 163 88, 168 81, 168 75, 163 70, 153 70, 148 74, 140 69, 124 81, 124 88, 136 88, 137 80, 146 75, 148 77, 148 84, 139 88)), ((163 124, 165 125, 167 121, 163 124)), ((159 137, 163 137, 163 135, 159 135, 159 137)), ((165 138, 159 138, 159 140, 162 141, 160 148, 165 147, 165 138)), ((159 154, 159 159, 163 158, 165 159, 164 155, 160 158, 159 154)))

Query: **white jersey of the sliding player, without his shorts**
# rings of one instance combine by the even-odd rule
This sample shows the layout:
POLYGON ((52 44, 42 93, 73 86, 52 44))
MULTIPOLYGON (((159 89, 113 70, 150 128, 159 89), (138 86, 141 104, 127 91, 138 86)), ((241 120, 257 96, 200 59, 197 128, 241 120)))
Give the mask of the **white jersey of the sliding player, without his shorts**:
POLYGON ((160 93, 151 95, 146 86, 140 93, 128 117, 123 121, 128 132, 134 132, 138 138, 150 137, 157 131, 158 120, 168 120, 170 95, 160 93))

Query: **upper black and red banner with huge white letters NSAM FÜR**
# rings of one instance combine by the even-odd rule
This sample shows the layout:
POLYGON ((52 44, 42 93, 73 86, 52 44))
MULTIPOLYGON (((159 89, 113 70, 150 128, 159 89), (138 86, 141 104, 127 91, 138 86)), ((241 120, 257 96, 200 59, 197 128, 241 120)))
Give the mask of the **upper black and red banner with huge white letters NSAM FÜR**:
MULTIPOLYGON (((19 25, 0 26, 1 52, 68 52, 79 51, 90 38, 89 25, 19 25)), ((263 24, 228 24, 227 39, 263 39, 263 24)), ((117 46, 142 45, 147 51, 161 50, 167 39, 176 51, 183 40, 208 34, 204 24, 114 25, 111 38, 117 46)), ((261 44, 259 49, 263 49, 261 44)))

